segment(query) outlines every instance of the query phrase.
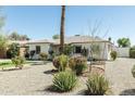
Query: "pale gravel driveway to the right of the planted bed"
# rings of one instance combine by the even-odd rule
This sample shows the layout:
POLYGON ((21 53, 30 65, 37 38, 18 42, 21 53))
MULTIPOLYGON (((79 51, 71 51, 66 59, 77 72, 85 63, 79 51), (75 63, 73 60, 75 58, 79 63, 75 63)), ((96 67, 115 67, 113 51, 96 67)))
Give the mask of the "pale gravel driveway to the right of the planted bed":
POLYGON ((114 62, 107 62, 106 76, 110 80, 113 94, 134 94, 135 78, 131 70, 135 59, 116 59, 114 62))

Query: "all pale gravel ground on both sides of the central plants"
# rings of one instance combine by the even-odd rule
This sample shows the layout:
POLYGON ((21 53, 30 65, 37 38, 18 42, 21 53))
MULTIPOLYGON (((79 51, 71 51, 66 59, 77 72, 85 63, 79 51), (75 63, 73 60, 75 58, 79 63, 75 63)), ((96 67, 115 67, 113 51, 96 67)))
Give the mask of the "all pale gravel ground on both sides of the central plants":
MULTIPOLYGON (((131 74, 134 64, 135 60, 133 59, 118 59, 114 62, 107 62, 106 76, 110 80, 112 94, 135 94, 135 78, 131 74)), ((79 77, 79 84, 71 92, 58 93, 47 90, 52 85, 53 75, 50 72, 52 68, 52 63, 47 63, 46 65, 29 65, 17 71, 0 72, 0 94, 83 94, 86 89, 86 78, 84 77, 79 77)))

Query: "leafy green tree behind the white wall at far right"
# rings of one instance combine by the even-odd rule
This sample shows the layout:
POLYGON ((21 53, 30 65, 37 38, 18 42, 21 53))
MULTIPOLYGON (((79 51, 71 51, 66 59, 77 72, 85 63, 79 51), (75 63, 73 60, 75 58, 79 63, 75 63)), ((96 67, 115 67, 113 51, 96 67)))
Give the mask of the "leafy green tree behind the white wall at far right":
POLYGON ((122 48, 131 47, 131 41, 128 38, 120 38, 118 39, 118 45, 119 47, 122 47, 122 48))

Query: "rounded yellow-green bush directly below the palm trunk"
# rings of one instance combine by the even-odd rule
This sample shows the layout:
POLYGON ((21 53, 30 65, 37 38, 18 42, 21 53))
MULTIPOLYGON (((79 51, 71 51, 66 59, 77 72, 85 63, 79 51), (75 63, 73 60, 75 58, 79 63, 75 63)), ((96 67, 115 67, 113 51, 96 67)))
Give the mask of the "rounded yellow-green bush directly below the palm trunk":
POLYGON ((58 68, 60 72, 61 71, 65 71, 65 68, 68 67, 68 61, 69 58, 68 55, 61 54, 59 56, 56 56, 53 59, 53 65, 56 68, 58 68))

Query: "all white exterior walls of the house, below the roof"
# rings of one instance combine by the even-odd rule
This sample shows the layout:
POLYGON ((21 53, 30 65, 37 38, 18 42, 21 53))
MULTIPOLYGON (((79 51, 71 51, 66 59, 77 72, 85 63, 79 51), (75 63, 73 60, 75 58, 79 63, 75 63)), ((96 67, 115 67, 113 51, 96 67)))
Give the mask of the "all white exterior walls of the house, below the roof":
MULTIPOLYGON (((109 42, 95 42, 95 43, 99 43, 101 52, 100 55, 95 54, 94 56, 97 59, 110 60, 111 50, 108 50, 109 42)), ((40 46, 40 52, 46 52, 46 53, 48 53, 49 49, 51 48, 50 43, 32 43, 28 45, 29 51, 36 50, 36 46, 40 46)), ((82 46, 82 48, 85 47, 86 49, 90 50, 91 43, 72 43, 72 46, 82 46)), ((53 48, 53 50, 56 49, 53 48)), ((88 56, 90 55, 88 54, 88 56)), ((33 59, 39 59, 39 55, 35 54, 33 59)))

